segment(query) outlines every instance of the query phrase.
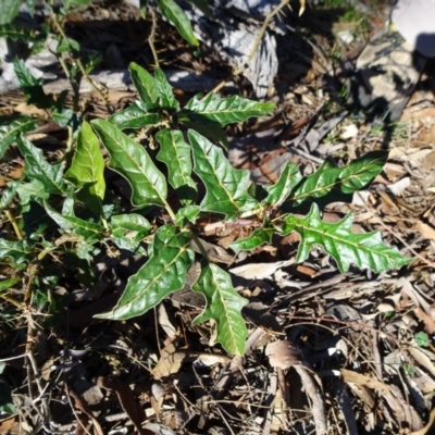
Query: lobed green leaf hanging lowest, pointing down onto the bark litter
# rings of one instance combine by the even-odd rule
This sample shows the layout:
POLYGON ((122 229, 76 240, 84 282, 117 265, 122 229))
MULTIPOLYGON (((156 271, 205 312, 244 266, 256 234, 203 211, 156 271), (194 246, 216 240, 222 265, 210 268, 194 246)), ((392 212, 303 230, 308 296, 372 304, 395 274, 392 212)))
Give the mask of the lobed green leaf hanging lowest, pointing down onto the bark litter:
POLYGON ((229 353, 244 355, 248 331, 241 309, 248 301, 233 288, 229 275, 210 263, 202 268, 191 289, 206 298, 206 309, 194 323, 213 320, 217 330, 216 341, 229 353))

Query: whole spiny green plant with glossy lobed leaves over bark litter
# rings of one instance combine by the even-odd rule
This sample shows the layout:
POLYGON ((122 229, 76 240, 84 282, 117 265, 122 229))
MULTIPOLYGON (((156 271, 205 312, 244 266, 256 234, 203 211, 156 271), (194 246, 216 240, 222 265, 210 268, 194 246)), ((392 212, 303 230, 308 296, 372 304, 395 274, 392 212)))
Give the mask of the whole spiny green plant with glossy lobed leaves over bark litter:
POLYGON ((247 300, 234 289, 229 274, 201 248, 200 219, 213 216, 254 227, 248 238, 232 244, 235 252, 271 244, 274 234, 297 232, 298 262, 307 259, 314 245, 343 273, 352 263, 381 272, 409 262, 396 248, 384 245, 378 232, 352 234, 352 213, 337 223, 321 219, 320 207, 349 199, 373 181, 386 161, 385 152, 370 152, 344 167, 325 161, 308 177, 287 162, 275 185, 252 185, 249 171, 234 169, 225 157, 223 127, 265 115, 273 104, 208 95, 181 108, 161 70, 151 75, 133 63, 129 73, 139 100, 108 120, 79 120, 75 147, 60 162, 49 163, 26 138, 25 132, 36 126, 34 121, 21 117, 3 128, 3 152, 16 141, 25 170, 20 182, 9 185, 1 206, 8 208, 18 195, 23 225, 17 231, 25 234, 22 239, 0 239, 2 258, 24 268, 61 249, 74 252, 89 266, 101 249, 110 254, 127 249, 146 256, 147 262, 128 278, 113 310, 96 315, 111 320, 140 315, 183 288, 197 260, 200 274, 191 289, 203 295, 206 308, 194 323, 213 321, 216 341, 236 355, 244 353, 247 328, 241 309, 247 300), (105 167, 130 186, 127 212, 120 213, 105 191, 105 167), (44 210, 57 223, 54 237, 46 236, 47 224, 30 224, 36 210, 44 210), (151 212, 152 224, 147 220, 151 212))

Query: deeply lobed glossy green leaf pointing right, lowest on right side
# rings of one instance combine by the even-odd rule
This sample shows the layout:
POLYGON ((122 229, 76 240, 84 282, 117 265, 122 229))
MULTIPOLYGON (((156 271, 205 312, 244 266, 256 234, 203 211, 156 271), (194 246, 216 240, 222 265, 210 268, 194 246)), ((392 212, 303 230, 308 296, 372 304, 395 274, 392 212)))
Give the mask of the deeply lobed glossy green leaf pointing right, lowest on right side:
POLYGON ((400 268, 412 260, 405 258, 397 248, 384 245, 380 232, 353 234, 352 219, 353 213, 349 213, 337 223, 323 222, 318 206, 313 203, 307 216, 300 219, 289 214, 284 220, 283 235, 293 231, 300 235, 298 262, 307 259, 314 245, 320 245, 334 258, 341 273, 346 273, 352 263, 361 269, 382 272, 400 268))

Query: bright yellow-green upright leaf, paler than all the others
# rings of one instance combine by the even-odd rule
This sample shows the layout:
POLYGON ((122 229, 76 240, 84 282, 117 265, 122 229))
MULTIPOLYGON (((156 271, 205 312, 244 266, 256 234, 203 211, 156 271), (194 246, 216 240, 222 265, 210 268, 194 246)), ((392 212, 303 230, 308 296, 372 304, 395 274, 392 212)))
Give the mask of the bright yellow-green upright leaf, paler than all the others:
POLYGON ((105 192, 104 159, 101 156, 98 137, 86 121, 78 132, 77 149, 65 177, 82 188, 80 200, 97 212, 101 210, 105 192))

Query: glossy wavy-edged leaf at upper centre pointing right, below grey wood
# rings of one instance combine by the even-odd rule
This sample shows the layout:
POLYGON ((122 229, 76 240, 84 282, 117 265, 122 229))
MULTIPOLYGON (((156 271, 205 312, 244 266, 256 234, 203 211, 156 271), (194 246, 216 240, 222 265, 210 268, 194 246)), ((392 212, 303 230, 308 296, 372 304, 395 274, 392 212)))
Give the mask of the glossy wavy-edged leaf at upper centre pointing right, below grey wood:
MULTIPOLYGON (((207 119, 225 126, 231 123, 241 122, 251 116, 263 116, 275 108, 271 102, 258 102, 247 100, 239 96, 220 98, 214 94, 208 95, 204 99, 194 97, 184 108, 184 111, 191 111, 191 121, 207 119), (196 115, 196 116, 195 116, 196 115)), ((184 114, 182 112, 181 116, 184 114)))

